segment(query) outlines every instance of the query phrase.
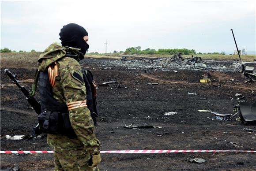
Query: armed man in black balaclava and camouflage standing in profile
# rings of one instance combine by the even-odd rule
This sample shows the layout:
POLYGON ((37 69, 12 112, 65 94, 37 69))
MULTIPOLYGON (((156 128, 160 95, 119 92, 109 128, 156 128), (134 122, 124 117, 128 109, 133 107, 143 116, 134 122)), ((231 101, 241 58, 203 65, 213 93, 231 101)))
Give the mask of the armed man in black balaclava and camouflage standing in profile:
POLYGON ((98 171, 100 141, 94 134, 79 64, 89 48, 88 33, 70 23, 60 30, 60 40, 61 45, 53 43, 39 56, 38 88, 45 118, 71 126, 48 134, 47 143, 54 151, 56 171, 98 171))

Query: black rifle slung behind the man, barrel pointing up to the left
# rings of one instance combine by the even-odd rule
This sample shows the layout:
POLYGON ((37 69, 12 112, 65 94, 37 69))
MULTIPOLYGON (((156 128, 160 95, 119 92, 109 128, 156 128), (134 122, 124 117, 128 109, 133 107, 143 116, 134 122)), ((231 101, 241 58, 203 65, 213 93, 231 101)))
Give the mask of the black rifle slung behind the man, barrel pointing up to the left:
MULTIPOLYGON (((41 114, 41 104, 38 103, 38 101, 30 95, 30 93, 28 92, 28 90, 24 87, 19 85, 18 80, 15 78, 16 74, 12 74, 11 71, 9 71, 8 69, 5 69, 4 72, 8 75, 9 78, 11 78, 11 80, 19 87, 19 89, 22 91, 22 93, 26 96, 26 99, 28 101, 28 103, 34 108, 35 112, 40 115, 41 114)), ((33 136, 37 137, 38 135, 40 135, 42 132, 39 129, 39 126, 37 125, 36 127, 33 128, 33 136)))

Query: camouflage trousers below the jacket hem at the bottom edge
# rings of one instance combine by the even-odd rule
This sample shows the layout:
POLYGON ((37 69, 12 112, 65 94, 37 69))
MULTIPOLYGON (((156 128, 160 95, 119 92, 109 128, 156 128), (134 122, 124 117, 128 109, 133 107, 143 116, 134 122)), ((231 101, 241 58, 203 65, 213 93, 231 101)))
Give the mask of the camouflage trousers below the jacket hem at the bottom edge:
POLYGON ((55 171, 99 171, 98 166, 89 167, 90 154, 70 156, 58 152, 53 153, 55 171))

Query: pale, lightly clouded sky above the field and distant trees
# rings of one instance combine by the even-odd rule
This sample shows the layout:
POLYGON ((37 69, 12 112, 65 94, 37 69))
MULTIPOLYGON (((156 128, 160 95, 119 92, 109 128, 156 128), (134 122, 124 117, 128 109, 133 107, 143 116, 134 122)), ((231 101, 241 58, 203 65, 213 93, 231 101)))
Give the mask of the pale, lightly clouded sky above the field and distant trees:
POLYGON ((43 51, 68 23, 89 34, 89 52, 128 47, 256 54, 256 0, 1 0, 1 48, 43 51))

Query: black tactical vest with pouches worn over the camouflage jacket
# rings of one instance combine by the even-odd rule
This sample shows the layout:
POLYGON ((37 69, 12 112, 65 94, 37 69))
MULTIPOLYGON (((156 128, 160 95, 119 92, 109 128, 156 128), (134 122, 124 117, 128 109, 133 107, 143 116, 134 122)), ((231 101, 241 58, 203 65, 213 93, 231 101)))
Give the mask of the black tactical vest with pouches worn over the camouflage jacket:
MULTIPOLYGON (((96 84, 90 71, 83 71, 83 81, 86 86, 87 107, 90 110, 94 125, 97 126, 96 84)), ((46 134, 62 134, 75 138, 76 134, 69 120, 68 106, 58 102, 53 97, 48 72, 40 72, 38 88, 42 106, 42 113, 38 116, 40 130, 46 134)))

